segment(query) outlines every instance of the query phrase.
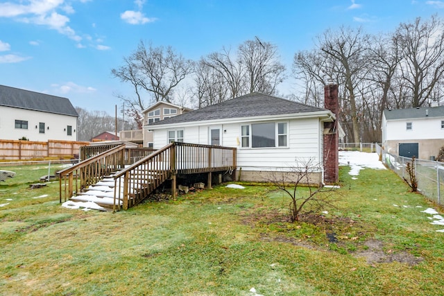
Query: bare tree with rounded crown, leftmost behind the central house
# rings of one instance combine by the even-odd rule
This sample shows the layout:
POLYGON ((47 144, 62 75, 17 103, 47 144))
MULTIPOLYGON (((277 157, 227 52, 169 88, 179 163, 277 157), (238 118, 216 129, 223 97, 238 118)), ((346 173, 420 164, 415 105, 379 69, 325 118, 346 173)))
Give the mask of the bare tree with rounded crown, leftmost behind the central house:
POLYGON ((140 42, 136 51, 123 58, 123 66, 112 69, 111 73, 122 82, 129 82, 135 89, 136 98, 119 96, 135 110, 144 110, 146 92, 153 100, 172 101, 173 91, 189 74, 194 72, 194 62, 185 60, 171 46, 147 47, 140 42))

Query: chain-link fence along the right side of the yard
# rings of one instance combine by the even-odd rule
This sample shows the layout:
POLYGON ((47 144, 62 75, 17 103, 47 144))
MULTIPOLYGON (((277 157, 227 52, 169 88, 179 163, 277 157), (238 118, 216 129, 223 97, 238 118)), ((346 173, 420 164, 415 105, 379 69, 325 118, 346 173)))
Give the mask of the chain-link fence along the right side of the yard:
MULTIPOLYGON (((383 164, 397 173, 402 179, 405 178, 410 181, 406 168, 408 163, 412 163, 411 158, 388 153, 379 145, 376 145, 376 152, 380 155, 383 164)), ((441 194, 444 194, 444 163, 415 159, 414 165, 418 192, 425 195, 429 200, 444 205, 444 198, 441 196, 441 194)))

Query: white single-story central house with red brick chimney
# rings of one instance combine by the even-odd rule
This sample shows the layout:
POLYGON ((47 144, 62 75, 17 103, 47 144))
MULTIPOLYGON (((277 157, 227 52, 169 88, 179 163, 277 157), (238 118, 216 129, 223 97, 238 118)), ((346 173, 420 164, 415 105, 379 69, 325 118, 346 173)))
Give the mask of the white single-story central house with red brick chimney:
POLYGON ((144 129, 153 132, 155 149, 172 141, 237 148, 237 180, 264 182, 311 162, 311 182, 337 182, 337 94, 337 85, 325 86, 327 109, 247 94, 163 121, 148 121, 144 129))

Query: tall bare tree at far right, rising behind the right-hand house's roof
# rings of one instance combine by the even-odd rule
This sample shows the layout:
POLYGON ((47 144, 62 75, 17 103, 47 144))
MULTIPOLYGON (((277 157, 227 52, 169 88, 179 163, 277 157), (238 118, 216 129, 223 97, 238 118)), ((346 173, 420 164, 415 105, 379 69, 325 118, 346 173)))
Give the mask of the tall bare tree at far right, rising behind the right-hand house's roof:
POLYGON ((409 87, 412 107, 418 107, 434 96, 444 73, 444 25, 436 15, 422 21, 402 23, 393 35, 398 51, 403 55, 400 63, 404 85, 409 87))

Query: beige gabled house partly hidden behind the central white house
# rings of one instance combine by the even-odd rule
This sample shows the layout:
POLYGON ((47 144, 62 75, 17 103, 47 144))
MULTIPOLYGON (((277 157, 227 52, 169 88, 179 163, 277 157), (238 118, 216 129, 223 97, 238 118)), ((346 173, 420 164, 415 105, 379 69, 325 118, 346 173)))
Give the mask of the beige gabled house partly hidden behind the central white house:
MULTIPOLYGON (((142 112, 142 114, 144 114, 144 125, 156 123, 164 119, 169 119, 171 117, 184 114, 189 111, 192 111, 192 109, 181 107, 168 102, 157 102, 142 112)), ((130 141, 130 139, 122 140, 130 141)), ((144 147, 153 148, 153 132, 148 129, 144 129, 143 143, 144 147)))

